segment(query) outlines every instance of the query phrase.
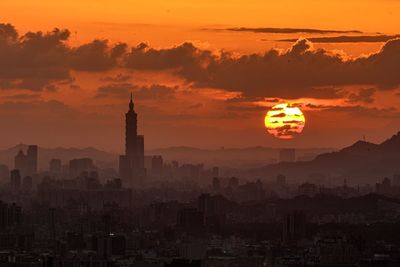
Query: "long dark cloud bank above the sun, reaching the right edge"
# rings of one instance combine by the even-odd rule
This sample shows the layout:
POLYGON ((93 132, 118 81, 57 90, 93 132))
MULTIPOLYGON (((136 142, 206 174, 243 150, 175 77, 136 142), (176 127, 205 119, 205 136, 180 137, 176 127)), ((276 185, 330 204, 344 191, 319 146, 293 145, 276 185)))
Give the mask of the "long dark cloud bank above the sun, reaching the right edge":
POLYGON ((400 39, 386 42, 377 53, 350 59, 300 39, 285 52, 272 49, 239 57, 188 43, 160 50, 144 46, 127 60, 130 68, 174 69, 195 87, 242 92, 245 97, 334 99, 343 97, 337 89, 341 86, 391 89, 400 84, 400 39))

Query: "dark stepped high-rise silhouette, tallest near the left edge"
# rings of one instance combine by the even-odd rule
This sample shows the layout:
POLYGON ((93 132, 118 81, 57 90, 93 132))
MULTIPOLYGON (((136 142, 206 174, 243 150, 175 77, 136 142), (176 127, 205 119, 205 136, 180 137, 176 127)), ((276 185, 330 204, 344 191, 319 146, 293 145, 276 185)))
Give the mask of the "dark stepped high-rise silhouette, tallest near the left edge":
POLYGON ((14 167, 20 171, 21 176, 33 176, 37 173, 38 147, 28 146, 27 153, 22 150, 14 158, 14 167))

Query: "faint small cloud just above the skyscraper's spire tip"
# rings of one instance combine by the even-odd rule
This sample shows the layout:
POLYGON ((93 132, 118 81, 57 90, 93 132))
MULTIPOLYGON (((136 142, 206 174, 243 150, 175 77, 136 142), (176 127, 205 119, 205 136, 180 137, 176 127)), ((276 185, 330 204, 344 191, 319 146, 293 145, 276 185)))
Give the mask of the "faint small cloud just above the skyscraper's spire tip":
POLYGON ((135 99, 168 100, 175 98, 177 89, 178 87, 168 87, 160 84, 134 86, 130 83, 116 83, 99 87, 96 97, 128 98, 132 92, 135 99))

